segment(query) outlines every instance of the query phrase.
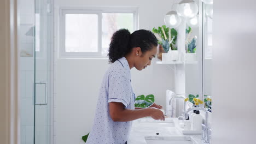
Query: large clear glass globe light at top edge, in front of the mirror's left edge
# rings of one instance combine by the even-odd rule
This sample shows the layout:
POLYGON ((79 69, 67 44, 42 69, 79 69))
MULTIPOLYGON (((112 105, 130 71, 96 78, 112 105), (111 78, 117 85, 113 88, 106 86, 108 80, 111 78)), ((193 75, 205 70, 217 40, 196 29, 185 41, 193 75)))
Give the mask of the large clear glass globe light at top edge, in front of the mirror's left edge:
POLYGON ((182 0, 177 6, 177 14, 184 18, 195 17, 198 13, 198 6, 193 0, 182 0))

